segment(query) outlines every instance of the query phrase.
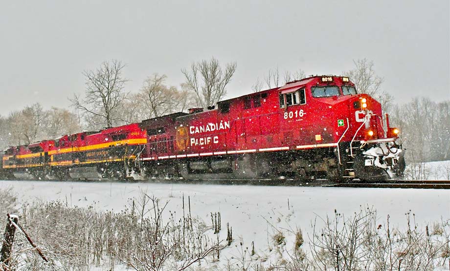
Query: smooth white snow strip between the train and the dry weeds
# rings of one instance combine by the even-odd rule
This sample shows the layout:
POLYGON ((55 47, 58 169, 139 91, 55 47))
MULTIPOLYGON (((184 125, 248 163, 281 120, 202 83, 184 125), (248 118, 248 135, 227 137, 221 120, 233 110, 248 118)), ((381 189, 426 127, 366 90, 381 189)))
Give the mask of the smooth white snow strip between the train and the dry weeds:
MULTIPOLYGON (((235 240, 243 240, 244 247, 254 242, 261 258, 273 257, 271 236, 276 227, 286 235, 287 248, 293 246, 294 231, 303 230, 304 238, 312 233, 316 218, 334 215, 335 209, 347 216, 361 208, 377 209, 379 223, 390 222, 406 226, 405 213, 411 210, 416 223, 450 219, 450 190, 389 189, 389 188, 326 188, 281 186, 234 186, 160 183, 83 183, 47 181, 0 181, 0 188, 13 187, 20 202, 35 200, 61 200, 69 206, 90 206, 103 210, 119 211, 128 200, 137 197, 140 190, 155 195, 163 202, 169 201, 167 210, 182 215, 182 198, 191 212, 211 224, 211 212, 221 212, 222 231, 226 238, 226 223, 233 229, 235 240), (289 202, 289 206, 288 206, 289 202), (271 226, 272 225, 272 226, 271 226), (225 230, 224 230, 225 229, 225 230)), ((240 242, 235 242, 239 244, 240 242)), ((228 247, 223 257, 239 257, 239 246, 228 247)))

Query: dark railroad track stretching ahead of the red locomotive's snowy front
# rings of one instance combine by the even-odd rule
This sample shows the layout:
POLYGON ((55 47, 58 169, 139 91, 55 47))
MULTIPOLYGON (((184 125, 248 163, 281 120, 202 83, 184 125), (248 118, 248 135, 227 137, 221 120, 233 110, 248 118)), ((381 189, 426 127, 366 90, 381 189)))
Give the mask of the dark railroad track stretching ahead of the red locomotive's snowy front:
POLYGON ((420 188, 420 189, 450 189, 450 180, 385 180, 379 182, 351 182, 333 184, 327 187, 346 188, 420 188))

